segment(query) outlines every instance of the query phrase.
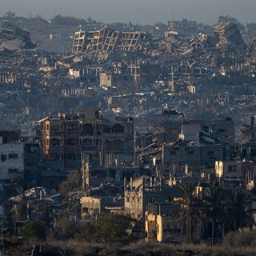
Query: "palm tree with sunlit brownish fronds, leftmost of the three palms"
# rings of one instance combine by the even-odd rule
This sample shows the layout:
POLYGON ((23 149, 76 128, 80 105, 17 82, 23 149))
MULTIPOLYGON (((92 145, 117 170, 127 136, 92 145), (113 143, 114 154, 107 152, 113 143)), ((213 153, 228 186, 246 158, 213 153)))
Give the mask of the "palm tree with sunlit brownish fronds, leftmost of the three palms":
POLYGON ((202 200, 196 195, 196 183, 180 183, 181 197, 175 203, 181 206, 178 211, 178 222, 182 224, 182 234, 189 232, 190 242, 194 242, 194 234, 202 229, 205 215, 202 200))

